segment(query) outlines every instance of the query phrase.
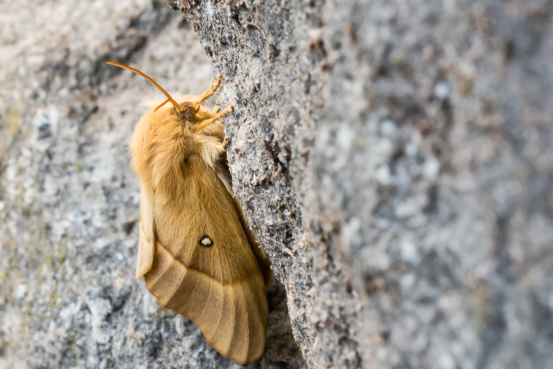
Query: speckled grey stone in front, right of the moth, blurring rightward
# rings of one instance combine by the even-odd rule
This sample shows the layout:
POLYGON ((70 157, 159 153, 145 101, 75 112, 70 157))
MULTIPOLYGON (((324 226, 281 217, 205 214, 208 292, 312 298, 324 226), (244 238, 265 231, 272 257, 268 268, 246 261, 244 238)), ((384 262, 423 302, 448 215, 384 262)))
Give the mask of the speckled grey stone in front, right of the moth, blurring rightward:
POLYGON ((311 368, 553 368, 553 2, 169 0, 311 368))

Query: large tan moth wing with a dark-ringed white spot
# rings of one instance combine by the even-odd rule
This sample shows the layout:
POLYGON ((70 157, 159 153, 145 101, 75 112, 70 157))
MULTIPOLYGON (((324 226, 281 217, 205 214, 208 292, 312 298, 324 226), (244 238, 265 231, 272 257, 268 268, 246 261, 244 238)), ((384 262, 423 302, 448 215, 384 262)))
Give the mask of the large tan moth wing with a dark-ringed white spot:
POLYGON ((268 303, 240 215, 203 161, 191 161, 183 178, 179 193, 185 195, 154 196, 156 241, 146 285, 225 357, 256 361, 265 349, 268 303))

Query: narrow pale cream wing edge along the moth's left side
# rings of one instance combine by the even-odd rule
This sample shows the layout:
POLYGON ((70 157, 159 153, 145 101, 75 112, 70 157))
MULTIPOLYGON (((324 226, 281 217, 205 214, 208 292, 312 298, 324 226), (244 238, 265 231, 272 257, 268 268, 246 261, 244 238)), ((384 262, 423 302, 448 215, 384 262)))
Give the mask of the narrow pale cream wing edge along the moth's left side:
POLYGON ((140 235, 138 237, 138 260, 136 279, 148 273, 153 263, 153 192, 145 183, 140 184, 140 235))

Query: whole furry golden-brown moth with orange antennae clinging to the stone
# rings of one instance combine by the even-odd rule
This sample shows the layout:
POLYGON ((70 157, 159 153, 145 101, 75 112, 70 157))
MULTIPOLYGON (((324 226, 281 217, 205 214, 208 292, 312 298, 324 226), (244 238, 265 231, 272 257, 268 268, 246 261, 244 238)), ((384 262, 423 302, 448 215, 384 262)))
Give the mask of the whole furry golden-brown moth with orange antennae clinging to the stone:
POLYGON ((136 125, 129 150, 140 179, 140 237, 136 279, 162 307, 196 323, 218 352, 237 363, 265 349, 270 263, 234 199, 227 138, 209 111, 221 77, 202 96, 178 102, 144 73, 167 100, 136 125), (171 104, 167 104, 171 102, 171 104))

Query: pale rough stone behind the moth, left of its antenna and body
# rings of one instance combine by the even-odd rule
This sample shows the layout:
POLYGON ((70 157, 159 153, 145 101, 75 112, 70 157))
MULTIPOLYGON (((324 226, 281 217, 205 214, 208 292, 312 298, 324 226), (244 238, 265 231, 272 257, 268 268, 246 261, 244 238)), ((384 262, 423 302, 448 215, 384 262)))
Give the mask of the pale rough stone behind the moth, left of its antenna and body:
MULTIPOLYGON (((140 192, 126 144, 155 93, 212 68, 164 1, 0 3, 0 368, 238 368, 134 279, 140 192)), ((184 90, 184 91, 183 91, 184 90)), ((303 368, 283 287, 250 368, 303 368)))

